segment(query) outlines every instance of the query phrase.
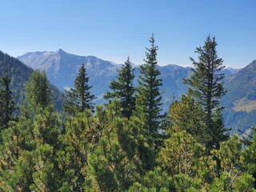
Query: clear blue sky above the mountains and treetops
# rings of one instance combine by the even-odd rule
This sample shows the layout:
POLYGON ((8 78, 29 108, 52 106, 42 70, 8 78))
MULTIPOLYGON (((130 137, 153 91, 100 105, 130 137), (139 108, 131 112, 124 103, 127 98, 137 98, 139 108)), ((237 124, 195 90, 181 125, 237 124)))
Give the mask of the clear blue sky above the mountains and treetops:
POLYGON ((0 50, 14 57, 62 48, 142 64, 154 33, 159 65, 189 66, 209 34, 226 66, 256 59, 255 0, 10 0, 0 17, 0 50))

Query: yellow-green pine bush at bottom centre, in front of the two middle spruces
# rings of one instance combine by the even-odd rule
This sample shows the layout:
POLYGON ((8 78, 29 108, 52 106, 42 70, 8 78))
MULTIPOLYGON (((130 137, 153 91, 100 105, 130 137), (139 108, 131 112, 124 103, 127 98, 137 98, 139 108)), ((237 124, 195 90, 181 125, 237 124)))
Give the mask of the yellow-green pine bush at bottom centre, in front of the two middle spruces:
MULTIPOLYGON (((139 122, 120 117, 120 102, 114 100, 106 105, 106 110, 97 108, 96 122, 100 137, 98 145, 89 155, 90 190, 126 191, 141 175, 141 161, 138 158, 138 142, 143 135, 138 134, 139 122)), ((89 189, 86 189, 89 191, 89 189)))

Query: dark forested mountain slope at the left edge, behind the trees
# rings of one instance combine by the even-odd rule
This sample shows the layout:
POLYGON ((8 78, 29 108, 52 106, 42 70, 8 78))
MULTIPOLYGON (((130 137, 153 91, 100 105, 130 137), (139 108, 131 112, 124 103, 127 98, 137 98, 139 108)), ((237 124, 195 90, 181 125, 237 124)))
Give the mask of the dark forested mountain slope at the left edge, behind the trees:
MULTIPOLYGON (((16 98, 16 103, 22 98, 22 91, 24 90, 24 82, 27 82, 34 70, 20 62, 17 58, 11 57, 0 51, 0 77, 7 74, 11 78, 10 90, 16 98)), ((54 100, 55 109, 62 109, 62 102, 64 102, 64 94, 58 88, 50 84, 50 91, 54 100)))

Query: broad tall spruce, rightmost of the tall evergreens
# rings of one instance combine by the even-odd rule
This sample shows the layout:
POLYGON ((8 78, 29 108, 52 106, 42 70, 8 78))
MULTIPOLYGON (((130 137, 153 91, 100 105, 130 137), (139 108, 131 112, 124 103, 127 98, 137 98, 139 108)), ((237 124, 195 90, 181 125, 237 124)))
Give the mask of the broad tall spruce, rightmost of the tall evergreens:
POLYGON ((228 138, 219 103, 219 99, 226 94, 222 81, 224 74, 221 72, 225 66, 222 58, 218 58, 217 45, 215 38, 208 36, 205 45, 196 48, 198 61, 190 58, 194 64, 193 74, 184 79, 190 86, 188 92, 204 109, 203 121, 206 123, 208 149, 218 148, 218 143, 228 138))

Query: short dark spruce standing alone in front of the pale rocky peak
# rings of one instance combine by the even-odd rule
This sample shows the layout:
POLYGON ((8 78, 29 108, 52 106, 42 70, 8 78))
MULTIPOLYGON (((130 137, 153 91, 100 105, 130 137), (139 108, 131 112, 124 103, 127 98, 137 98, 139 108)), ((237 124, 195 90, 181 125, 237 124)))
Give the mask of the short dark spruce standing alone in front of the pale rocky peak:
POLYGON ((85 110, 93 110, 94 94, 91 94, 92 86, 88 85, 89 78, 86 74, 84 64, 78 70, 78 76, 74 80, 74 87, 66 91, 66 104, 63 105, 64 110, 70 114, 76 112, 84 112, 85 110))

